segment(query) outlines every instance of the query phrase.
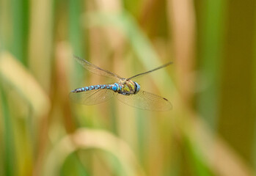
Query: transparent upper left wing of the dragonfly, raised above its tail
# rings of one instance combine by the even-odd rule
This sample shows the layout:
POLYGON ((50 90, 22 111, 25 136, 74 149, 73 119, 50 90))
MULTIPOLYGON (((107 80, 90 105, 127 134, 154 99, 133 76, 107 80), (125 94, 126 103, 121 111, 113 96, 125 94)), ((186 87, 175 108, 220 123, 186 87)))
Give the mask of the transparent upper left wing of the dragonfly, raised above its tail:
POLYGON ((104 70, 96 65, 93 65, 92 63, 84 60, 84 59, 81 59, 80 57, 78 56, 74 56, 74 58, 76 59, 76 61, 81 64, 85 69, 89 70, 90 72, 92 73, 95 73, 99 76, 105 76, 105 77, 109 77, 109 78, 116 78, 117 80, 120 80, 122 79, 120 76, 118 76, 117 74, 115 73, 111 73, 110 71, 108 70, 104 70))

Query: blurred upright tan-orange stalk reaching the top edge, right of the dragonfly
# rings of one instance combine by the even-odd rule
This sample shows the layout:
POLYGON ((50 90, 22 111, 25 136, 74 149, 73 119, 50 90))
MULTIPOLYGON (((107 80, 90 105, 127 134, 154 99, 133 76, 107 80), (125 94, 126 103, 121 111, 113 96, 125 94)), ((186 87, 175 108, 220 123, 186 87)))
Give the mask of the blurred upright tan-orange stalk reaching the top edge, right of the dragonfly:
POLYGON ((173 37, 175 67, 181 98, 189 105, 194 89, 191 71, 194 67, 195 12, 193 1, 167 1, 169 31, 173 37))

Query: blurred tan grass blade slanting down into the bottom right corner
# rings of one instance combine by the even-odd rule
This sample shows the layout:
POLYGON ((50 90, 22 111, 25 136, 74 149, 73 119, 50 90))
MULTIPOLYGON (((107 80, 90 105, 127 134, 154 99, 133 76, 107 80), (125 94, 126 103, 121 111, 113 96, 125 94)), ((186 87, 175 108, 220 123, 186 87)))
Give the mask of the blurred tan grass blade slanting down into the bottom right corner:
POLYGON ((191 128, 186 128, 186 135, 216 175, 255 175, 246 162, 223 139, 214 136, 205 122, 199 119, 191 122, 191 128))

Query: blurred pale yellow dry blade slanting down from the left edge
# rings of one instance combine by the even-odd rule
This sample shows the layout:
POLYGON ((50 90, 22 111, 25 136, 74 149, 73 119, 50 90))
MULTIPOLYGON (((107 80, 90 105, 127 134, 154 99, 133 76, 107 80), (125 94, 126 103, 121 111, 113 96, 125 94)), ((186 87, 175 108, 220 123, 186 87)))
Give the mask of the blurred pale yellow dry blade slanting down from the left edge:
POLYGON ((35 117, 43 117, 50 109, 50 100, 33 76, 12 55, 0 56, 0 74, 20 92, 34 109, 35 117))

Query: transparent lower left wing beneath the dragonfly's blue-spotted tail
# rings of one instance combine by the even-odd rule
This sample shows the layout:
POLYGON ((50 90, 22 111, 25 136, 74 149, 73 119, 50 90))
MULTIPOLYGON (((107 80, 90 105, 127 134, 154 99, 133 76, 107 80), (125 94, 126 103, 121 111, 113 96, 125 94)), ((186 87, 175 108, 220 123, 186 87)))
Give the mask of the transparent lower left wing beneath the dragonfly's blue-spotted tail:
POLYGON ((70 100, 84 105, 103 103, 112 97, 114 97, 114 91, 111 89, 93 89, 86 92, 70 92, 70 100))

